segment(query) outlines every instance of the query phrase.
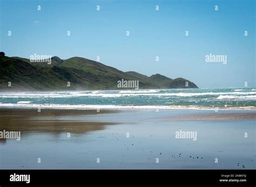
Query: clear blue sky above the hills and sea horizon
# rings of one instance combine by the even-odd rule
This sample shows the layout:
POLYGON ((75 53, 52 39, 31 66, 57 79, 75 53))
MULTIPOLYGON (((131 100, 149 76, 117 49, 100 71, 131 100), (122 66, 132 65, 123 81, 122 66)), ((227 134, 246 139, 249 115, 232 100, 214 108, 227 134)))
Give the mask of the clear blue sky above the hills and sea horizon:
POLYGON ((200 88, 255 87, 254 0, 0 2, 6 56, 100 56, 122 71, 183 77, 200 88), (227 64, 205 62, 210 53, 227 55, 227 64))

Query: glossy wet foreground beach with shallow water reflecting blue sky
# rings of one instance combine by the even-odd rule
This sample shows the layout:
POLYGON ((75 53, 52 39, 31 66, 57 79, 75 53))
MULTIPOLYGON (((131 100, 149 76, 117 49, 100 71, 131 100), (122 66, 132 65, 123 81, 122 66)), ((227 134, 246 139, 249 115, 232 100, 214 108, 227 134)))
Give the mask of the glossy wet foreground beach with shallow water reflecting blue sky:
POLYGON ((255 120, 177 120, 177 116, 188 114, 214 114, 214 111, 123 110, 84 116, 81 113, 31 115, 19 117, 19 123, 14 123, 16 117, 12 114, 3 119, 5 122, 2 120, 0 130, 14 123, 10 130, 19 127, 22 137, 21 141, 0 141, 0 168, 255 169, 255 120), (177 139, 176 132, 180 130, 197 132, 197 140, 177 139), (247 138, 244 133, 248 133, 247 138), (37 163, 38 158, 41 163, 37 163))

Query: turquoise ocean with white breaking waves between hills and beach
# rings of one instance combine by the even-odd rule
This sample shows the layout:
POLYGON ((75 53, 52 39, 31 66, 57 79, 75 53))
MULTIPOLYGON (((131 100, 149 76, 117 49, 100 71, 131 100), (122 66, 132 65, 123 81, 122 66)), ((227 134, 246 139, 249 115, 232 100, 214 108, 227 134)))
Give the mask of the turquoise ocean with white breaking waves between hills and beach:
POLYGON ((0 107, 255 110, 256 88, 0 92, 0 107))

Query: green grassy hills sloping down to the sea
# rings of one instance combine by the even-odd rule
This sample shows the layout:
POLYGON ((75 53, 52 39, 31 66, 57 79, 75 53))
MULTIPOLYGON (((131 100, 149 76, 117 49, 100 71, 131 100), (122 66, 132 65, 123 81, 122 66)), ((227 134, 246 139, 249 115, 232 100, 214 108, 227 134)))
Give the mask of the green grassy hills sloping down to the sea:
POLYGON ((198 88, 184 78, 173 80, 160 74, 148 77, 135 71, 123 72, 83 57, 62 60, 53 56, 51 64, 47 64, 0 56, 0 90, 3 91, 116 90, 120 89, 117 81, 122 79, 139 81, 139 89, 198 88), (8 87, 8 82, 11 82, 11 87, 8 87), (67 87, 67 82, 70 82, 70 87, 67 87))

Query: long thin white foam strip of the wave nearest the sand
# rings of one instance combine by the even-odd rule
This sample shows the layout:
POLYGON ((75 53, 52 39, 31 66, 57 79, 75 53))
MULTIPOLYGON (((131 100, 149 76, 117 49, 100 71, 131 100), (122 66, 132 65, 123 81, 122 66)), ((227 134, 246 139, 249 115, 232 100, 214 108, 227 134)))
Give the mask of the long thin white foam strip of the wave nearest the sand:
MULTIPOLYGON (((180 106, 180 105, 169 105, 169 106, 131 106, 131 105, 68 105, 68 104, 12 104, 2 103, 0 108, 18 108, 18 109, 74 109, 74 110, 122 110, 122 109, 183 109, 183 110, 215 110, 215 107, 207 106, 180 106)), ((256 110, 254 106, 239 106, 239 107, 219 107, 219 110, 256 110)))

